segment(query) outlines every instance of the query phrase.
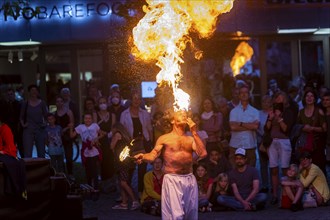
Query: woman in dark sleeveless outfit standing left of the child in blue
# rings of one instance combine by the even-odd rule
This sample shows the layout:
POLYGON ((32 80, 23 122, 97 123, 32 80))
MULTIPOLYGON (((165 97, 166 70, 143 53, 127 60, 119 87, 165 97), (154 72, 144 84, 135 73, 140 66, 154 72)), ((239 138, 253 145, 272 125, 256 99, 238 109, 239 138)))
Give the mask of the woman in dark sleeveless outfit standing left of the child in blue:
POLYGON ((23 127, 24 157, 32 157, 33 144, 37 148, 37 156, 45 157, 45 127, 48 108, 39 98, 39 89, 32 84, 28 87, 29 97, 21 105, 20 122, 23 127))

